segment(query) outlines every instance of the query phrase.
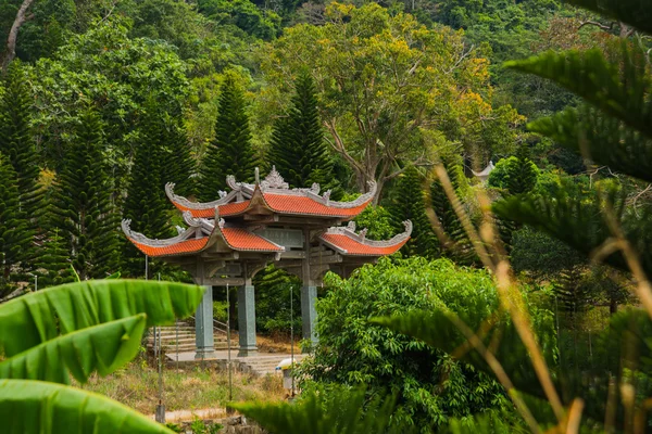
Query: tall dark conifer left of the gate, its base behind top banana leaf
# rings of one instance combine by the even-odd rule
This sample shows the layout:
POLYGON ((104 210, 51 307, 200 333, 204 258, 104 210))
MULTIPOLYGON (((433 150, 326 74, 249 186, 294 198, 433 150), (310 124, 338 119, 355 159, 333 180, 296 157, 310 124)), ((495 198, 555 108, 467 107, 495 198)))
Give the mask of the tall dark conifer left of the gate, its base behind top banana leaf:
POLYGON ((83 113, 53 194, 52 221, 83 280, 101 279, 116 269, 117 219, 103 146, 99 116, 83 113))

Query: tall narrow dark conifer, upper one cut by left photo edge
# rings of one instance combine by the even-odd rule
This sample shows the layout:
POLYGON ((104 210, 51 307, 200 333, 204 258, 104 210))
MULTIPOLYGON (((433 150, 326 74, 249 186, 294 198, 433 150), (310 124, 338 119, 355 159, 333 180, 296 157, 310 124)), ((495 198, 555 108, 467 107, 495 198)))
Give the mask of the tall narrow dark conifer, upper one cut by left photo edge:
POLYGON ((10 64, 3 85, 4 92, 0 93, 0 152, 13 166, 21 209, 33 220, 32 227, 35 228, 40 208, 40 170, 29 129, 29 89, 20 62, 14 61, 10 64))

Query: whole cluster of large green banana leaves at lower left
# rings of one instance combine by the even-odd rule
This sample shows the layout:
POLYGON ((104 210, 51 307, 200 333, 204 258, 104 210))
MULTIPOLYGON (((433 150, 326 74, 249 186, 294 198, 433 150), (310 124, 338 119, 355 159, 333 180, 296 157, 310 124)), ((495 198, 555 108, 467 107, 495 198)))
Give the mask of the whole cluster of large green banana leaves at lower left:
POLYGON ((171 433, 145 416, 65 384, 106 375, 137 354, 146 328, 190 316, 200 286, 97 280, 0 305, 0 420, 7 433, 171 433), (57 384, 61 383, 61 384, 57 384))

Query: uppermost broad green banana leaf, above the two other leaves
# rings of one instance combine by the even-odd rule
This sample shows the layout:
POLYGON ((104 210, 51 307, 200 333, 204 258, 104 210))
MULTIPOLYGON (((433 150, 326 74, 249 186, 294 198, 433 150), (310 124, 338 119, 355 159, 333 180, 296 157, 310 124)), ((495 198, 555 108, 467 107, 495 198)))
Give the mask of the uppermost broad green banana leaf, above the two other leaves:
POLYGON ((68 283, 0 305, 0 354, 28 348, 91 326, 147 315, 147 327, 195 312, 204 289, 172 282, 96 280, 68 283))

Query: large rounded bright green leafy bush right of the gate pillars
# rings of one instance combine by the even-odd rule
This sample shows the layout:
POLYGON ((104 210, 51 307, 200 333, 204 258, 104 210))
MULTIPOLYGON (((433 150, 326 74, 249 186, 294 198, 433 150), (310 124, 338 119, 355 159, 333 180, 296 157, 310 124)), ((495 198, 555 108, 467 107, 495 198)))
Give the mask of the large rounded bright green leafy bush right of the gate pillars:
POLYGON ((487 272, 456 268, 446 259, 392 264, 381 258, 349 280, 327 275, 326 285, 328 293, 317 302, 319 344, 314 359, 301 367, 311 379, 306 384, 364 384, 372 396, 397 392, 392 424, 416 425, 423 432, 446 425, 450 418, 509 406, 500 385, 468 365, 367 322, 437 306, 486 317, 499 303, 487 272))

